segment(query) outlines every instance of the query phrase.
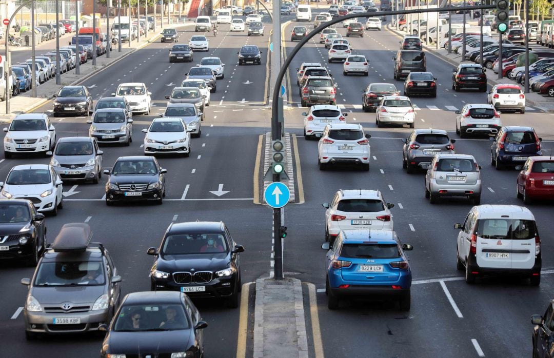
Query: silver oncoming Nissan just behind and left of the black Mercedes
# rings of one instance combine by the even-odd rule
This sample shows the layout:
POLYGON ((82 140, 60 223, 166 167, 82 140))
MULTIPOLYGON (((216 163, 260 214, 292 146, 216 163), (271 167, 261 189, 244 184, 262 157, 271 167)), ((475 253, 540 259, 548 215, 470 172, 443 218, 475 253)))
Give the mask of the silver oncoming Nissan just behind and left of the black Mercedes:
POLYGON ((64 137, 58 139, 50 165, 61 180, 91 180, 98 183, 102 177, 102 152, 91 137, 64 137))

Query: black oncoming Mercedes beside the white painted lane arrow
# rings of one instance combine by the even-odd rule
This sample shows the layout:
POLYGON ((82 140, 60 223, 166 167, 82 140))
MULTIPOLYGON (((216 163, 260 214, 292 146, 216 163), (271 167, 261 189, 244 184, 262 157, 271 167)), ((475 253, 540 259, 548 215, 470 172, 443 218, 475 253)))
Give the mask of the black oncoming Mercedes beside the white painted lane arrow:
POLYGON ((151 156, 119 157, 106 183, 106 205, 118 201, 156 201, 166 196, 166 169, 151 156))

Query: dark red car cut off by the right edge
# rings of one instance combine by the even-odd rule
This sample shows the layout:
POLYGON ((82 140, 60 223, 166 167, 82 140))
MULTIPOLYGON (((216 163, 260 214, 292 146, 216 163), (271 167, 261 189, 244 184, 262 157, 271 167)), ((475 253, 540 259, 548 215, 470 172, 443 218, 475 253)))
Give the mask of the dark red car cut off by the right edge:
POLYGON ((554 199, 554 158, 527 158, 517 176, 517 197, 530 204, 534 199, 554 199))

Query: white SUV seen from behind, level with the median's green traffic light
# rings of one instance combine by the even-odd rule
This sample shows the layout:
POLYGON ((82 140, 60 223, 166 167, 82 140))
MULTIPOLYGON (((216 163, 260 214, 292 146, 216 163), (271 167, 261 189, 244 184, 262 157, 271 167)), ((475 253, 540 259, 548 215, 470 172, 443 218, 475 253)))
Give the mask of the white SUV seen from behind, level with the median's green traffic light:
POLYGON ((361 124, 328 124, 317 144, 320 170, 337 164, 357 165, 365 171, 370 170, 370 138, 371 135, 364 134, 361 124))

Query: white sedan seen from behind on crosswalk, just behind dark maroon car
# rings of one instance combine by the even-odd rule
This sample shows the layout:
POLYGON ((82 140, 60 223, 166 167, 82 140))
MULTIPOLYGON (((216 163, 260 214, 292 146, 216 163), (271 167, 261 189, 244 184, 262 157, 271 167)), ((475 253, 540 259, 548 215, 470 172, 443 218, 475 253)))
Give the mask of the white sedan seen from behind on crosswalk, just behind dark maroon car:
POLYGON ((412 101, 406 96, 384 96, 375 110, 375 124, 407 124, 414 127, 416 112, 412 101))

